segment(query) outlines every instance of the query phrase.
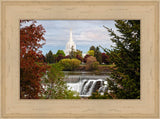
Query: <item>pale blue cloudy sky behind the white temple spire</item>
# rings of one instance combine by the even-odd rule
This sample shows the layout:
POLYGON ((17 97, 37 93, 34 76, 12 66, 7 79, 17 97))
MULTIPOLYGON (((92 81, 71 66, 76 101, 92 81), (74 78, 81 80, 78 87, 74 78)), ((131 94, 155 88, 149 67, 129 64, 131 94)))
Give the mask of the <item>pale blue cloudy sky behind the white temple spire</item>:
MULTIPOLYGON (((72 38, 76 44, 76 49, 86 54, 93 46, 102 46, 111 49, 114 45, 110 40, 109 32, 106 28, 116 31, 113 20, 36 20, 37 25, 41 24, 46 33, 44 35, 46 44, 40 49, 45 55, 51 50, 54 54, 58 50, 65 50, 66 43, 69 41, 70 29, 72 38)), ((103 52, 102 49, 100 49, 103 52)))

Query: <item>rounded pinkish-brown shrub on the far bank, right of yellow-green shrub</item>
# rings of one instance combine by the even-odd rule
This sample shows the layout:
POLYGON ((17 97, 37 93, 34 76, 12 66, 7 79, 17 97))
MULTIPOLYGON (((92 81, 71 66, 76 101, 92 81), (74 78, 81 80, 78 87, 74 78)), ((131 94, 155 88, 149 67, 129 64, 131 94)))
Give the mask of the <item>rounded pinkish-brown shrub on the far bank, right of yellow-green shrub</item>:
POLYGON ((93 56, 87 58, 86 70, 96 70, 98 69, 99 62, 93 56))

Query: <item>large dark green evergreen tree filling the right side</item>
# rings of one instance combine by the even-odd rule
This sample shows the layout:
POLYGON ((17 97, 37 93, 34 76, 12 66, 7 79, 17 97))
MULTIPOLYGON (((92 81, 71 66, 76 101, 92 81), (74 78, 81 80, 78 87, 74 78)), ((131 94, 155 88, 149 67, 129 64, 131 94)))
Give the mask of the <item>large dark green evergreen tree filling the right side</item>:
POLYGON ((115 68, 108 79, 108 88, 112 98, 140 98, 140 21, 116 20, 115 26, 120 35, 105 27, 115 43, 108 50, 110 61, 115 68))

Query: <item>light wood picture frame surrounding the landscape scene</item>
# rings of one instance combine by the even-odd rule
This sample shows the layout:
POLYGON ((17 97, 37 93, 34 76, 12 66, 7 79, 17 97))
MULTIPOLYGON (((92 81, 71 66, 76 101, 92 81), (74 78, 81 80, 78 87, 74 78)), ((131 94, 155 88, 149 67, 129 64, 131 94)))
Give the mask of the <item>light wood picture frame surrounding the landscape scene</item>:
POLYGON ((159 0, 2 0, 0 5, 1 118, 160 118, 159 0), (20 19, 141 20, 141 99, 20 100, 20 19))

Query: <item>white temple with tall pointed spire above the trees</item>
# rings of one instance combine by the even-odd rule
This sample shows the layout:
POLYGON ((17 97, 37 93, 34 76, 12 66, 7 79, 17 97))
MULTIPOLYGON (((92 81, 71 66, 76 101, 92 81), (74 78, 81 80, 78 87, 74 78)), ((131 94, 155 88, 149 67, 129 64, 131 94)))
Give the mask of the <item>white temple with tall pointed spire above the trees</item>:
POLYGON ((73 47, 73 50, 76 51, 76 44, 73 42, 73 39, 72 39, 72 30, 70 30, 70 38, 69 38, 69 41, 66 44, 66 49, 65 49, 65 54, 66 55, 69 55, 69 53, 72 50, 72 47, 73 47))

